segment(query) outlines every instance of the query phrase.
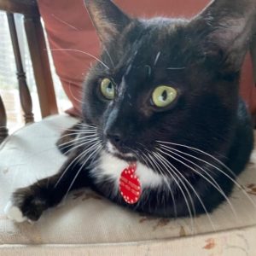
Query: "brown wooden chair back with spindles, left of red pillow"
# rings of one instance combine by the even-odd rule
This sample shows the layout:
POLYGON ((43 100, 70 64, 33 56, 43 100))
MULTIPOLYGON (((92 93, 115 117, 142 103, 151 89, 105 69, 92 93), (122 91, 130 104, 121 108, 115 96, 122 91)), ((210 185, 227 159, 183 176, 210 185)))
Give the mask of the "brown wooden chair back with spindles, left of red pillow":
MULTIPOLYGON (((49 58, 46 50, 44 31, 38 12, 37 1, 0 0, 0 10, 5 11, 8 17, 9 32, 15 53, 15 64, 17 69, 16 75, 20 90, 20 104, 24 112, 26 124, 34 121, 32 113, 32 97, 26 84, 26 73, 21 61, 14 13, 24 15, 24 27, 32 59, 32 67, 38 89, 38 98, 42 117, 57 113, 58 110, 55 91, 49 69, 49 58)), ((0 143, 8 136, 8 129, 6 125, 6 112, 3 100, 0 96, 0 143)))

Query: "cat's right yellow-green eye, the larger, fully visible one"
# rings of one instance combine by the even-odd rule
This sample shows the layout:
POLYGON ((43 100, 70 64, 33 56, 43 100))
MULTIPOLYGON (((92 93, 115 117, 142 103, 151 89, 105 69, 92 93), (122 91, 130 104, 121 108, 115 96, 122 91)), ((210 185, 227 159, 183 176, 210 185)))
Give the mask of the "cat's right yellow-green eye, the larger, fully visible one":
POLYGON ((152 95, 152 101, 158 108, 165 108, 177 97, 177 90, 170 86, 161 85, 157 87, 152 95))

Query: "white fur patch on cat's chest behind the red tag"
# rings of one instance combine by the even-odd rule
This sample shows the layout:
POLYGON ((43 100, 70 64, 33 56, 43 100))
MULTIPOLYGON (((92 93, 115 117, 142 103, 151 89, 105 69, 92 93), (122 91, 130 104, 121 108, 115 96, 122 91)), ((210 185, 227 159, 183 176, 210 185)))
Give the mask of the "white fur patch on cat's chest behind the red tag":
MULTIPOLYGON (((120 160, 113 156, 113 154, 102 152, 96 168, 90 174, 96 178, 97 182, 102 182, 102 179, 106 179, 106 177, 113 180, 115 184, 113 190, 117 191, 119 189, 121 172, 126 167, 128 167, 128 164, 124 160, 120 160)), ((152 169, 144 166, 140 162, 137 162, 136 175, 141 182, 142 189, 157 188, 164 183, 164 178, 160 174, 155 173, 152 169)))

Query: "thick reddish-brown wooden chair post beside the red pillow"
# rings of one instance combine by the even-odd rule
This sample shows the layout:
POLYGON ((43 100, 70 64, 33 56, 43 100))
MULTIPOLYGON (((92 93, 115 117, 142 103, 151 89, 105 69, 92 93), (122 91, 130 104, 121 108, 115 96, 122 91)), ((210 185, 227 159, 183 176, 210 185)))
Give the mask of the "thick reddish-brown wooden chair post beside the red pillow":
POLYGON ((45 117, 58 113, 58 109, 40 16, 25 15, 24 25, 38 87, 41 113, 42 117, 45 117))

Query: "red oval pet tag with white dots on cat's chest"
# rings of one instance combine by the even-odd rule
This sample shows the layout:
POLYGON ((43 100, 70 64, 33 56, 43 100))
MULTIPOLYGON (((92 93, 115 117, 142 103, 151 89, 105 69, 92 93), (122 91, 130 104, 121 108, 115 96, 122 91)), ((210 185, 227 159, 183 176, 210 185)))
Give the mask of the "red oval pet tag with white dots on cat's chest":
POLYGON ((125 202, 131 205, 137 203, 142 195, 141 183, 135 174, 136 169, 136 164, 128 166, 119 178, 120 194, 125 202))

